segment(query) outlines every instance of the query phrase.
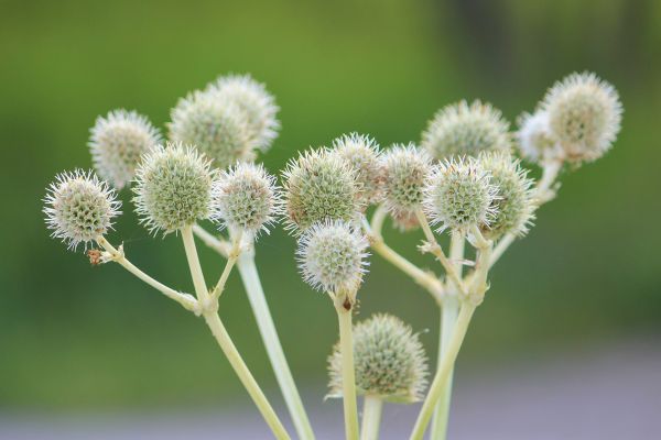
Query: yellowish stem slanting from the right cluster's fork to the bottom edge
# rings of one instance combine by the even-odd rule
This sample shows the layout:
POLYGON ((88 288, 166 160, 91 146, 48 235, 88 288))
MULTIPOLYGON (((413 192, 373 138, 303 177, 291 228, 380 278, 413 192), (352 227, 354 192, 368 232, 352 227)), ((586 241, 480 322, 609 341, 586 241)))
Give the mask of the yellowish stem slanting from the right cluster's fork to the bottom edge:
POLYGON ((464 302, 462 306, 457 323, 452 333, 449 343, 447 344, 447 351, 443 354, 443 360, 438 365, 434 381, 430 386, 427 396, 422 404, 422 409, 420 410, 418 419, 415 420, 415 426, 410 437, 411 440, 422 440, 422 437, 424 436, 426 426, 432 418, 434 406, 443 396, 443 389, 449 380, 449 375, 457 359, 457 354, 459 353, 459 349, 462 348, 462 343, 464 342, 464 337, 468 330, 468 324, 470 323, 476 305, 469 301, 464 302))

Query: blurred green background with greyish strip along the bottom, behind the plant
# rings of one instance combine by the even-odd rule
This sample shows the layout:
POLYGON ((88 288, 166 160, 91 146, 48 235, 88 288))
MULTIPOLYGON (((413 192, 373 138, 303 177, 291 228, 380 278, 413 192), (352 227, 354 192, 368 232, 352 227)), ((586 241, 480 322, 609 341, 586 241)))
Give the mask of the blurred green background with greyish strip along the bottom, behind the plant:
MULTIPOLYGON (((52 426, 62 438, 95 437, 85 429, 100 438, 97 426, 108 438, 131 437, 180 426, 170 416, 154 421, 162 414, 198 421, 191 415, 201 408, 208 418, 181 438, 268 437, 199 319, 48 238, 44 188, 58 172, 90 166, 98 114, 136 109, 163 128, 187 91, 251 73, 282 108, 281 135, 261 157, 278 173, 296 151, 348 131, 381 145, 419 141, 433 113, 462 98, 490 101, 514 123, 553 81, 584 69, 620 92, 622 131, 604 158, 562 175, 560 197, 494 270, 460 354, 452 431, 661 436, 660 47, 655 0, 0 1, 0 437, 50 438, 52 426)), ((122 199, 111 240, 189 290, 180 240, 148 237, 129 191, 122 199)), ((418 233, 388 228, 387 239, 434 266, 415 251, 418 233)), ((213 279, 223 263, 199 250, 213 279)), ((258 264, 313 419, 333 438, 339 403, 322 399, 335 316, 301 282, 293 252, 279 229, 259 241, 258 264)), ((395 314, 435 358, 438 317, 425 292, 375 256, 360 298, 358 319, 395 314)), ((236 274, 220 314, 282 408, 236 274)), ((401 421, 387 432, 399 427, 403 437, 414 409, 389 410, 386 424, 401 421)))

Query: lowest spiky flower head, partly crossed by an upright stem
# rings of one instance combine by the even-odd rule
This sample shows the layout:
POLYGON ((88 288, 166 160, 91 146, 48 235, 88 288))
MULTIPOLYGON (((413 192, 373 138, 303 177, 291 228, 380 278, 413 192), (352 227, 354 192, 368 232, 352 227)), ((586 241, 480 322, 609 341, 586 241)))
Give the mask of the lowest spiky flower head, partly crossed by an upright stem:
MULTIPOLYGON (((418 334, 399 318, 376 315, 354 326, 354 365, 359 394, 394 403, 424 396, 427 359, 418 334)), ((339 344, 328 358, 329 397, 342 397, 339 344)))

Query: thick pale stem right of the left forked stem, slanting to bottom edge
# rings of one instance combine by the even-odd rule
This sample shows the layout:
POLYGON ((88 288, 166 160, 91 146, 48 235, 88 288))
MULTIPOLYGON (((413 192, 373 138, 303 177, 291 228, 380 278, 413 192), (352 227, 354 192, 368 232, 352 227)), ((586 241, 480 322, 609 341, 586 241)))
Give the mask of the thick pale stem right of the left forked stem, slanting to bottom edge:
POLYGON ((299 433, 299 438, 302 440, 312 440, 314 439, 314 432, 307 415, 305 414, 305 408, 301 400, 301 396, 299 395, 299 391, 296 389, 292 372, 284 356, 282 344, 278 338, 275 324, 273 323, 264 290, 262 289, 259 279, 257 266, 254 265, 254 250, 252 243, 239 256, 237 268, 241 275, 246 293, 248 294, 248 300, 250 301, 252 312, 254 314, 257 327, 259 328, 259 332, 267 349, 267 354, 269 355, 271 366, 273 367, 273 373, 275 374, 275 380, 280 385, 280 389, 294 422, 294 427, 296 428, 296 432, 299 433))

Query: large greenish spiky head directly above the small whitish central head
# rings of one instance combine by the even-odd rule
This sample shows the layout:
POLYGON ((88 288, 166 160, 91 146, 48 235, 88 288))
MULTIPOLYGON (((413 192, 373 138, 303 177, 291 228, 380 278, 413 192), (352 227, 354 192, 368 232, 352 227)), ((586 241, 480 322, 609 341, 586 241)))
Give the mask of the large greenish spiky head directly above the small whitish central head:
POLYGON ((354 170, 325 148, 291 160, 283 173, 286 228, 303 231, 316 222, 353 220, 360 212, 354 170))

